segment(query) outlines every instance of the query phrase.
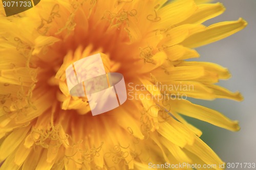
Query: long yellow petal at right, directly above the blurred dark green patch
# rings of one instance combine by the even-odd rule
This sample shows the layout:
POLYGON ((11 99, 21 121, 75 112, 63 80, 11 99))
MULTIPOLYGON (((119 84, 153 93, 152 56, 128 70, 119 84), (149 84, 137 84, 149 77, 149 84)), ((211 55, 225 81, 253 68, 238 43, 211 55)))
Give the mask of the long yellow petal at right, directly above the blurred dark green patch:
POLYGON ((195 105, 186 100, 180 100, 177 102, 174 109, 180 114, 197 118, 227 130, 238 131, 240 129, 237 121, 230 120, 218 111, 200 105, 195 105))

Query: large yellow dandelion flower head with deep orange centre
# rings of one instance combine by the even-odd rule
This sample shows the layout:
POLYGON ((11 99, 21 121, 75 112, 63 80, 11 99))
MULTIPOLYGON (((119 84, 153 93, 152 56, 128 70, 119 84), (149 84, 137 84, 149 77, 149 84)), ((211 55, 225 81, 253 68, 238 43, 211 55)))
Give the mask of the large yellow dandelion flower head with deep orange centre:
POLYGON ((201 131, 181 115, 231 131, 239 130, 238 122, 184 97, 243 97, 215 85, 230 77, 226 68, 185 60, 199 57, 191 48, 247 23, 205 27, 204 21, 224 12, 222 4, 166 2, 45 0, 10 17, 1 8, 1 170, 148 169, 165 162, 223 168, 201 131), (86 97, 70 95, 65 70, 97 53, 106 72, 124 76, 128 99, 92 116, 86 97))

